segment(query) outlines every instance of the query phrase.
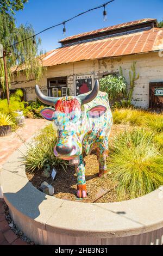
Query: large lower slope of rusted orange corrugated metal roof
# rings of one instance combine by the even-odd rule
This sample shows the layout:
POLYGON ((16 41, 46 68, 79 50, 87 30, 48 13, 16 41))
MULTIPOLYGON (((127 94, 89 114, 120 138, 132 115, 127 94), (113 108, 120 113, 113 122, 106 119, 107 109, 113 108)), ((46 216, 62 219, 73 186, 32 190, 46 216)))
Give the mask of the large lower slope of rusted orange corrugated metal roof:
POLYGON ((163 50, 163 28, 61 47, 48 52, 42 63, 53 66, 158 50, 163 50))

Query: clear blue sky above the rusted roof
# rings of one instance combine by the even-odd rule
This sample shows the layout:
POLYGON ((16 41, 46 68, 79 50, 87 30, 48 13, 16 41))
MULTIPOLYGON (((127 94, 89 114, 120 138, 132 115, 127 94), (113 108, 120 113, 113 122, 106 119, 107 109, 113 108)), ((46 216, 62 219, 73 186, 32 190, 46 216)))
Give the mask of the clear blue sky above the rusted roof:
MULTIPOLYGON (((32 24, 35 32, 60 23, 107 0, 28 0, 23 11, 17 11, 17 26, 32 24)), ((84 14, 66 24, 66 36, 108 27, 118 23, 143 18, 163 19, 163 0, 115 0, 106 7, 107 21, 103 21, 103 9, 84 14)), ((60 47, 62 27, 40 34, 42 50, 60 47)))

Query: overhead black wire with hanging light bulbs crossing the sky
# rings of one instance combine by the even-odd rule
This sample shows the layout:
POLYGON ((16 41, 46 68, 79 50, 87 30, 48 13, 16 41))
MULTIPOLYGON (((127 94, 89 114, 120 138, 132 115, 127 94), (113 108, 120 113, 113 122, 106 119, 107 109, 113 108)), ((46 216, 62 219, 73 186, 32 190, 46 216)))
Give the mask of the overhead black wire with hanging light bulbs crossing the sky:
POLYGON ((74 16, 74 17, 68 19, 68 20, 62 21, 62 22, 58 23, 57 25, 53 25, 53 26, 51 26, 51 27, 49 27, 49 28, 43 29, 43 31, 40 31, 39 33, 36 33, 35 35, 29 36, 28 38, 23 39, 23 40, 21 40, 21 41, 15 42, 15 44, 12 44, 12 45, 10 45, 10 46, 8 46, 8 47, 15 46, 15 45, 17 45, 17 44, 20 44, 20 42, 24 42, 24 41, 29 40, 29 39, 31 39, 31 38, 33 38, 33 42, 35 43, 35 36, 37 36, 37 35, 39 35, 39 34, 45 32, 45 31, 47 31, 47 30, 49 30, 49 29, 51 29, 51 28, 55 28, 55 27, 58 27, 58 26, 61 26, 61 25, 64 26, 64 28, 63 28, 63 34, 65 35, 65 33, 66 33, 65 23, 67 23, 68 21, 71 21, 71 20, 73 20, 73 19, 76 19, 77 17, 79 17, 79 16, 81 16, 81 15, 83 15, 83 14, 89 13, 90 11, 97 10, 97 9, 99 9, 99 8, 104 8, 103 16, 104 16, 104 21, 106 21, 106 10, 105 10, 105 7, 106 7, 106 5, 108 5, 109 3, 114 2, 114 1, 115 1, 115 0, 111 0, 111 1, 109 1, 109 2, 106 2, 106 3, 104 3, 104 4, 98 5, 97 7, 94 7, 94 8, 92 8, 92 9, 87 10, 87 11, 83 11, 83 13, 80 13, 80 14, 78 14, 78 15, 76 15, 76 16, 74 16))

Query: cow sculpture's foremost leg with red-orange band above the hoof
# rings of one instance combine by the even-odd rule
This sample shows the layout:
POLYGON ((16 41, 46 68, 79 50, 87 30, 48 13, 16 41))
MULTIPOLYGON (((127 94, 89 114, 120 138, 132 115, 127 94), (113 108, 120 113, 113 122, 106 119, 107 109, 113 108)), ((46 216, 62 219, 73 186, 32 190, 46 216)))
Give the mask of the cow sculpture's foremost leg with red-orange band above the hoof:
POLYGON ((77 197, 86 197, 86 181, 85 181, 85 164, 83 161, 83 155, 80 156, 79 166, 77 169, 77 197))

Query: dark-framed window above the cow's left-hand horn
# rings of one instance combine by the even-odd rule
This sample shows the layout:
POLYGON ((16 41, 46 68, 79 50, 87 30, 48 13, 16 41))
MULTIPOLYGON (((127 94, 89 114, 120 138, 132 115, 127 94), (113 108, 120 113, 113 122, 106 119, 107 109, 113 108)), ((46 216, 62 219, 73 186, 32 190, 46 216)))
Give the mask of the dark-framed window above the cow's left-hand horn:
POLYGON ((67 95, 67 77, 49 78, 47 83, 48 96, 63 97, 67 95))

